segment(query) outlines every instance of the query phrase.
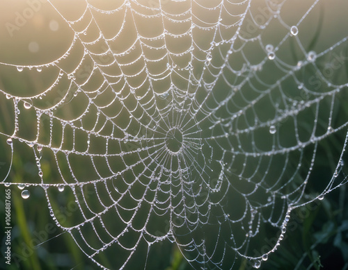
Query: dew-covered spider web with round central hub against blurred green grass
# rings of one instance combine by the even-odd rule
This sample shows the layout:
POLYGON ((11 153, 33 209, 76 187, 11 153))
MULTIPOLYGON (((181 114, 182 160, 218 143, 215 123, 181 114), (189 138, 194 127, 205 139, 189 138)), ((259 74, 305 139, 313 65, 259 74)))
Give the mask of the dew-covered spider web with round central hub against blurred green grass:
POLYGON ((6 151, 12 162, 29 151, 37 167, 20 182, 11 165, 2 183, 25 185, 24 199, 42 187, 56 225, 100 267, 106 255, 112 269, 137 258, 145 268, 153 246, 171 241, 195 268, 239 258, 259 268, 292 210, 347 182, 347 31, 319 38, 333 7, 67 3, 46 6, 61 19, 63 53, 52 42, 52 61, 1 62, 41 80, 29 94, 0 90, 6 151), (334 135, 343 138, 334 169, 318 183, 317 155, 334 135), (73 217, 60 217, 61 205, 73 217))

